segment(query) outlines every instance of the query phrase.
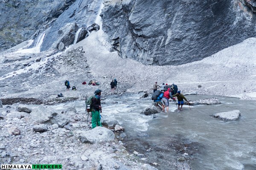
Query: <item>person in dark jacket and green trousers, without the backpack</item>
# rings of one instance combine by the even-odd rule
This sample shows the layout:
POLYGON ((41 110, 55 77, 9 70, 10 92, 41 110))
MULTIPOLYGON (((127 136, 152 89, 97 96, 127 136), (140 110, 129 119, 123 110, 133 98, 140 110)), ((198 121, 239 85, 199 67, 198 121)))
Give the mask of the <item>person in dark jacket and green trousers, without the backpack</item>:
POLYGON ((94 92, 95 97, 92 98, 92 128, 98 126, 102 126, 100 122, 100 113, 102 113, 101 103, 100 103, 100 95, 101 90, 97 89, 94 92))

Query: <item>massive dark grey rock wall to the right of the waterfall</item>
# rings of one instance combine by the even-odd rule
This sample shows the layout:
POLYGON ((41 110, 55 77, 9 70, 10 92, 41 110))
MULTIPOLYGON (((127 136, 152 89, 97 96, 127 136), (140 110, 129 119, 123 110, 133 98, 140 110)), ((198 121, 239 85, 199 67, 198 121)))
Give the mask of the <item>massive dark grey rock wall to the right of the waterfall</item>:
POLYGON ((106 2, 102 28, 123 58, 145 65, 180 65, 256 35, 255 14, 241 1, 106 2))

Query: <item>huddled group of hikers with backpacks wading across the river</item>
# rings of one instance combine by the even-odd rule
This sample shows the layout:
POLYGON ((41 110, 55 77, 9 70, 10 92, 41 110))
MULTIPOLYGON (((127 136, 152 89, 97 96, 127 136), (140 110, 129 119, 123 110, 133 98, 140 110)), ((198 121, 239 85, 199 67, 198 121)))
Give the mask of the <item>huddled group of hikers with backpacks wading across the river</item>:
MULTIPOLYGON (((162 111, 166 112, 169 111, 169 99, 173 99, 176 102, 175 97, 177 97, 178 100, 178 111, 182 111, 182 107, 184 104, 184 100, 188 102, 186 97, 178 91, 177 85, 174 83, 172 85, 164 84, 162 86, 157 85, 157 82, 153 85, 153 95, 152 100, 156 103, 156 105, 160 105, 162 107, 162 111), (160 88, 160 90, 157 90, 157 88, 160 88)), ((189 102, 188 102, 189 105, 189 102)))

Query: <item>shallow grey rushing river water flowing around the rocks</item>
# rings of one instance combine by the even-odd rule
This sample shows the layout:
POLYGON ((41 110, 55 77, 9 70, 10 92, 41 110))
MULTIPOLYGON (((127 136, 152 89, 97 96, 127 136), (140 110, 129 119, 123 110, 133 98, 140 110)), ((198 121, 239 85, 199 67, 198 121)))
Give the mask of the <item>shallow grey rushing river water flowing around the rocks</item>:
POLYGON ((154 117, 140 114, 152 103, 151 96, 140 99, 142 95, 108 96, 102 104, 102 114, 114 116, 125 127, 123 142, 131 152, 145 154, 148 163, 159 164, 159 170, 177 169, 174 164, 180 157, 192 170, 256 170, 255 101, 189 95, 186 98, 191 100, 216 97, 223 104, 198 105, 191 110, 185 106, 177 112, 170 102, 169 113, 154 117), (211 116, 232 110, 241 112, 239 120, 224 122, 211 116))

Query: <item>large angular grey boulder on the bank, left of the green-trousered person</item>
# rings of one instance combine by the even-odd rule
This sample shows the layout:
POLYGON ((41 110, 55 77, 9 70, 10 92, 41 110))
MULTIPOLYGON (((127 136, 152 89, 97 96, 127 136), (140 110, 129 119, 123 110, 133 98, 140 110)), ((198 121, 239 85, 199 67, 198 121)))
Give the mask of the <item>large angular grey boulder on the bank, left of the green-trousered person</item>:
POLYGON ((63 114, 57 113, 57 111, 46 108, 42 105, 33 109, 30 113, 30 119, 38 123, 44 123, 48 125, 57 124, 59 127, 64 127, 69 121, 63 114))

